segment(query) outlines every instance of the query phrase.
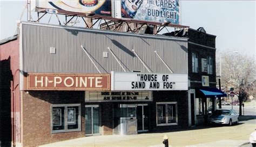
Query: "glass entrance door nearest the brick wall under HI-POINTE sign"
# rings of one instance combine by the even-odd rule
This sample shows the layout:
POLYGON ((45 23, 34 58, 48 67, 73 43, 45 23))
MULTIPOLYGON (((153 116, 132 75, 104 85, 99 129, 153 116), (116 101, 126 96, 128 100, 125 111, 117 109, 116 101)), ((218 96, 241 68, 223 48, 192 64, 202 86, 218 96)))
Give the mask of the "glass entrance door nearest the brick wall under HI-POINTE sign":
POLYGON ((99 105, 86 105, 85 135, 100 135, 99 125, 99 105))

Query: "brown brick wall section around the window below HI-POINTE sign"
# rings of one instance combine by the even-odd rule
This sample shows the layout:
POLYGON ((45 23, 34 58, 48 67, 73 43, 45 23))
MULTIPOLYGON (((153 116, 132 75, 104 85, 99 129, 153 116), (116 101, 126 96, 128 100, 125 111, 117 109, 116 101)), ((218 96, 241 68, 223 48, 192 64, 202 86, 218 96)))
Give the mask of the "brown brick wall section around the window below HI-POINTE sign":
POLYGON ((84 92, 78 91, 22 91, 22 144, 38 146, 67 139, 85 137, 84 92), (82 131, 51 133, 51 105, 80 104, 82 131))

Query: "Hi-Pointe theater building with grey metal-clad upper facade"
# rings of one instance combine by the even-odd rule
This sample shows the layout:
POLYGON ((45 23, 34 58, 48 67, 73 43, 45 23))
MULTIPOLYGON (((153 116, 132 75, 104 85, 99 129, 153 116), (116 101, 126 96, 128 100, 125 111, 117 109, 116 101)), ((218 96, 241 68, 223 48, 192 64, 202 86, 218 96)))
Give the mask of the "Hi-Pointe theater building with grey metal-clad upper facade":
POLYGON ((0 42, 9 75, 1 101, 11 109, 1 117, 13 144, 191 126, 187 38, 28 22, 19 29, 0 42))

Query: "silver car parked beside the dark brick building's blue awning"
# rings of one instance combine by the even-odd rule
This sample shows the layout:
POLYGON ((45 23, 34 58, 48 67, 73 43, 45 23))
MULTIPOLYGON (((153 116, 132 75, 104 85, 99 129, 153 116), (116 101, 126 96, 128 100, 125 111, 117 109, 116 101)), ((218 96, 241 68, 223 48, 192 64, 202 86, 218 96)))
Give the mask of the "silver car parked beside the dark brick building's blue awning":
POLYGON ((237 114, 233 109, 217 109, 209 117, 208 122, 210 124, 228 124, 232 126, 233 123, 238 124, 239 114, 237 114))

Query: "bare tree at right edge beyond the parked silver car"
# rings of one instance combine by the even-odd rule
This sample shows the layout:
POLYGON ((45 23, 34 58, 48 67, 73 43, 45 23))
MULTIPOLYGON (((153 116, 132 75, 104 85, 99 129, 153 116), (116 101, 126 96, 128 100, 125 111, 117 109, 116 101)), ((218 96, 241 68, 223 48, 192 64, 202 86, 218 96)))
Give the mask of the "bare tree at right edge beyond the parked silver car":
MULTIPOLYGON (((251 83, 255 80, 255 62, 252 57, 241 54, 221 54, 221 84, 232 85, 239 98, 239 115, 242 114, 242 102, 248 99, 251 83)), ((217 63, 217 69, 219 69, 217 63)), ((229 91, 229 90, 226 90, 229 91)))

